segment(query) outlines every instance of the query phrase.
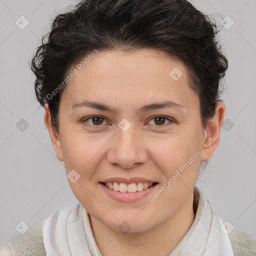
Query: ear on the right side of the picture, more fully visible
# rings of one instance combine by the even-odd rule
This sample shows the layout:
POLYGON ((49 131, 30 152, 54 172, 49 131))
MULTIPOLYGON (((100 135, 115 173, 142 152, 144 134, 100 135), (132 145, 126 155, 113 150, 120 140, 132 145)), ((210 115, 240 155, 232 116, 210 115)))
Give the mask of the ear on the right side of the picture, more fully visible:
POLYGON ((220 129, 224 120, 225 104, 223 101, 216 102, 215 114, 208 120, 203 134, 203 147, 201 161, 208 160, 219 143, 220 129))

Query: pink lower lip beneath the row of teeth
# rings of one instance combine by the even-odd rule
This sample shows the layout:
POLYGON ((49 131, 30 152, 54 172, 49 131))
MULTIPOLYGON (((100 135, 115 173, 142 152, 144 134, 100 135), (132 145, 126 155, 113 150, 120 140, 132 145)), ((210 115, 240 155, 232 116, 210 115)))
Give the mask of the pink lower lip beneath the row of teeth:
POLYGON ((158 183, 157 183, 157 184, 155 184, 153 186, 150 186, 150 187, 148 187, 146 189, 143 189, 141 191, 136 191, 134 193, 130 193, 130 192, 114 191, 113 189, 110 189, 110 188, 106 187, 102 183, 99 183, 99 184, 100 184, 100 186, 104 189, 104 191, 108 195, 110 195, 114 199, 116 199, 118 201, 121 201, 121 202, 134 202, 134 201, 138 201, 142 197, 144 197, 147 194, 149 194, 158 185, 158 183))

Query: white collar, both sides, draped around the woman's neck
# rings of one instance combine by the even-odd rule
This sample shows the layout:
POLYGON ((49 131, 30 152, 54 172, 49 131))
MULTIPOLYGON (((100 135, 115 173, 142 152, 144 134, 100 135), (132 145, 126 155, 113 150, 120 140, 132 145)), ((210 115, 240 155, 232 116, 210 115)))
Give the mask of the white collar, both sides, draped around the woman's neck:
MULTIPOLYGON (((231 243, 198 188, 198 207, 185 236, 169 256, 233 256, 231 243)), ((89 215, 78 202, 52 214, 43 224, 46 256, 101 256, 91 229, 89 215)))

